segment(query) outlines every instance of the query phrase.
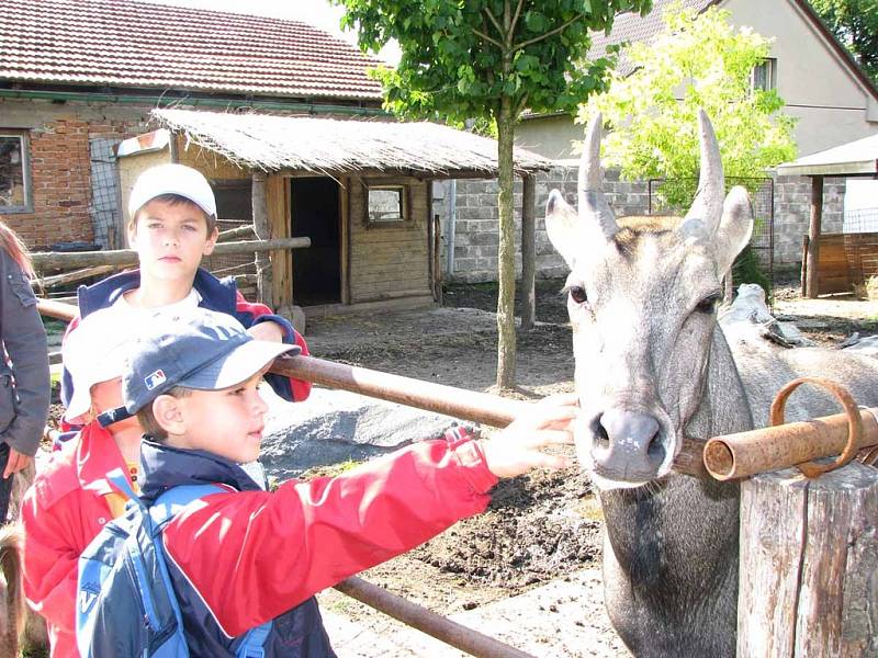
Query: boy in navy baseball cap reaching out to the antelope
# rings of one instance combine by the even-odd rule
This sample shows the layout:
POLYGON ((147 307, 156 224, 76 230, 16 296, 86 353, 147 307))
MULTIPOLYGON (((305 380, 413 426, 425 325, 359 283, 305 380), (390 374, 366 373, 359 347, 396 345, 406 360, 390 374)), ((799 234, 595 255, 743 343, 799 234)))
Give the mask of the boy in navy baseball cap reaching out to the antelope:
MULTIPOLYGON (((234 656, 243 634, 270 620, 266 657, 335 656, 316 592, 482 512, 498 477, 566 466, 540 449, 572 443, 575 396, 536 405, 491 440, 455 430, 337 477, 291 480, 269 492, 239 464, 259 455, 261 372, 295 350, 254 340, 228 316, 201 310, 142 336, 123 376, 125 409, 116 417, 137 413, 146 432, 143 498, 179 485, 227 488, 190 503, 164 530, 192 656, 234 656)), ((113 629, 124 634, 126 620, 113 611, 102 620, 102 642, 125 653, 113 629)))

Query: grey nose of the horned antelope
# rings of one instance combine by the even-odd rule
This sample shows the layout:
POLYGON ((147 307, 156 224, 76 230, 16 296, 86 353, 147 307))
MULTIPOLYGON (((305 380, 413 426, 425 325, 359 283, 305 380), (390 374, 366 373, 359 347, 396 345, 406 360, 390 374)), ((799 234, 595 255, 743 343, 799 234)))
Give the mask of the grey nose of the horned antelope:
POLYGON ((592 455, 600 475, 620 480, 652 479, 665 458, 662 428, 648 415, 610 409, 593 426, 592 455))

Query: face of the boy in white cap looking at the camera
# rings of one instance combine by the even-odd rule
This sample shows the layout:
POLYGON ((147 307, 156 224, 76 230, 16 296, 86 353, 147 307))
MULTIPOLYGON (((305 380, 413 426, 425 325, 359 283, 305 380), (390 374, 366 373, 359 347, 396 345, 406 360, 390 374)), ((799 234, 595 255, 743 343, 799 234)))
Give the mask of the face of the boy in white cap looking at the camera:
POLYGON ((216 245, 217 231, 207 232, 207 218, 193 203, 153 200, 128 227, 128 241, 137 251, 143 277, 158 281, 191 280, 201 259, 216 245))

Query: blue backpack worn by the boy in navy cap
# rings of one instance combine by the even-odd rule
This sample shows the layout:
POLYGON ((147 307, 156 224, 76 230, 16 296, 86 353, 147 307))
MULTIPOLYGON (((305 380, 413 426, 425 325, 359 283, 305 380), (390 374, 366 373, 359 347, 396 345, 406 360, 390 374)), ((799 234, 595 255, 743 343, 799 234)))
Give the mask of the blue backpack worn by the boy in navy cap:
MULTIPOLYGON (((125 513, 104 525, 79 557, 79 654, 83 658, 188 658, 161 531, 190 502, 227 489, 216 485, 173 487, 147 507, 121 468, 109 473, 108 479, 131 500, 125 513)), ((270 621, 248 631, 235 656, 261 658, 270 631, 270 621)))

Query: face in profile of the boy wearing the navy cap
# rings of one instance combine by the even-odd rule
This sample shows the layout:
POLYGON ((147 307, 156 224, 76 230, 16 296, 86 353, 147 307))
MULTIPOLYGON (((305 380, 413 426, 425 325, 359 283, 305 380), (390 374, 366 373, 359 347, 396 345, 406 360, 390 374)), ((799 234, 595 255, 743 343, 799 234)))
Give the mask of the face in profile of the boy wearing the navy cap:
POLYGON ((193 390, 177 398, 181 439, 176 447, 204 450, 244 464, 259 457, 268 411, 257 389, 261 373, 222 390, 193 390))

